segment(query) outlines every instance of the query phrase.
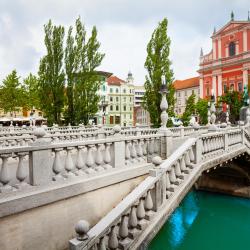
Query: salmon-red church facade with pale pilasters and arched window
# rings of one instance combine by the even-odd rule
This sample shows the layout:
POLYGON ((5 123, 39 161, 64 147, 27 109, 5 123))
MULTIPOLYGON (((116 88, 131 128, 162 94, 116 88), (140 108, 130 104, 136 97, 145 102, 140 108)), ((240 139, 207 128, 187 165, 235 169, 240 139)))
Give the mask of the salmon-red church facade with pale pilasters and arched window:
POLYGON ((212 35, 212 50, 203 55, 199 65, 200 97, 215 97, 228 90, 242 92, 250 84, 250 18, 231 20, 212 35), (213 91, 212 91, 213 90, 213 91))

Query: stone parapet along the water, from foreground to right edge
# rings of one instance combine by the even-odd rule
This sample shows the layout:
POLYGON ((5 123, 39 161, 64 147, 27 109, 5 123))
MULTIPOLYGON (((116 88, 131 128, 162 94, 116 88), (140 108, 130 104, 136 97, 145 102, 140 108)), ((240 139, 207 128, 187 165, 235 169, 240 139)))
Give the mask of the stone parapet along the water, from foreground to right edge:
POLYGON ((99 223, 88 232, 76 230, 70 250, 145 249, 205 169, 246 151, 248 130, 225 129, 187 139, 99 223))

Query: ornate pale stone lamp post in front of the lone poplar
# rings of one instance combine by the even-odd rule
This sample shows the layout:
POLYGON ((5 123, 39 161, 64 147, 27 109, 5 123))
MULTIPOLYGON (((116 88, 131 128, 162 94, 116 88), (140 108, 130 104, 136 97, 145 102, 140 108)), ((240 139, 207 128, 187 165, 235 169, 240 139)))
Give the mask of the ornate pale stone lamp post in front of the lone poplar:
POLYGON ((160 93, 162 95, 161 104, 160 104, 160 108, 162 111, 161 112, 161 130, 167 130, 168 113, 166 110, 168 109, 168 102, 167 102, 166 96, 168 93, 168 89, 166 85, 165 76, 162 76, 161 81, 162 81, 161 90, 160 90, 160 93))

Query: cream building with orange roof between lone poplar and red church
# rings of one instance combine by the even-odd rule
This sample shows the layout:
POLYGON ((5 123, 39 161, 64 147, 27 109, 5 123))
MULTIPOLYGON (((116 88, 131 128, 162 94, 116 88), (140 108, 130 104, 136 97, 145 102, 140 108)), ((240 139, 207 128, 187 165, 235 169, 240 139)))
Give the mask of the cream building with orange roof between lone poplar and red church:
POLYGON ((179 116, 182 115, 186 108, 186 101, 192 94, 195 94, 196 101, 200 96, 199 77, 192 77, 185 80, 175 80, 175 113, 179 116))

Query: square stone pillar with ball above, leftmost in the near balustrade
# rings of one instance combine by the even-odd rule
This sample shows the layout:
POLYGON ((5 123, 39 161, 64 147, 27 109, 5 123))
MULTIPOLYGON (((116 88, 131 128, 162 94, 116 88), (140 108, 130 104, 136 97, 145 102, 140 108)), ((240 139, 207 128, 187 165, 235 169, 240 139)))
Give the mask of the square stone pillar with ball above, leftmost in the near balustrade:
MULTIPOLYGON (((48 146, 49 139, 43 138, 46 134, 43 128, 37 128, 34 135, 37 140, 30 146, 48 146)), ((63 163, 62 163, 63 164, 63 163)), ((30 184, 32 186, 44 185, 52 182, 51 149, 34 150, 29 152, 30 184)))

